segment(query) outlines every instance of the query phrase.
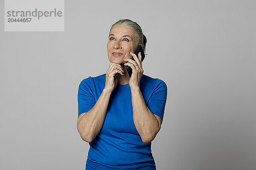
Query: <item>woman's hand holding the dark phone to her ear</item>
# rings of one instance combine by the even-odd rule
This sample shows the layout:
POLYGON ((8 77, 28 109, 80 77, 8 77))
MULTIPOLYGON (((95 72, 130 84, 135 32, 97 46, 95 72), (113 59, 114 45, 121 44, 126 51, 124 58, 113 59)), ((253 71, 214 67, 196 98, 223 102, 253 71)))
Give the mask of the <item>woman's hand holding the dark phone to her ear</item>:
POLYGON ((130 87, 140 87, 140 79, 142 77, 143 74, 143 68, 142 68, 142 64, 141 64, 141 54, 139 52, 139 58, 136 56, 136 54, 134 53, 130 53, 131 56, 134 57, 135 61, 132 59, 124 59, 126 62, 124 65, 128 65, 132 68, 132 74, 131 74, 131 78, 129 81, 129 85, 130 87))

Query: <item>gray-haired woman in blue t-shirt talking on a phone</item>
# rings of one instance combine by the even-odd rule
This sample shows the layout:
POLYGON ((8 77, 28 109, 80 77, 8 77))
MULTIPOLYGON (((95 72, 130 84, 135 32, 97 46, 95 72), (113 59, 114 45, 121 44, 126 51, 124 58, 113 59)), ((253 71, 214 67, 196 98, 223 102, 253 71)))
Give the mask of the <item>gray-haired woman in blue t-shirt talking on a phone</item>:
POLYGON ((163 121, 167 86, 143 74, 140 53, 132 53, 138 45, 145 51, 146 42, 136 22, 117 21, 109 32, 108 70, 80 82, 77 129, 90 144, 85 170, 156 170, 151 141, 163 121))

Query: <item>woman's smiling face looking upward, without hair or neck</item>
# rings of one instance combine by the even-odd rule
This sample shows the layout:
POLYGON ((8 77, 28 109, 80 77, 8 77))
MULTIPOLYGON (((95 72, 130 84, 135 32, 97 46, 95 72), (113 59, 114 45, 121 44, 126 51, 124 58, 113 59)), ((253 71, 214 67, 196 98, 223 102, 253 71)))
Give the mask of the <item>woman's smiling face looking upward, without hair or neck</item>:
POLYGON ((124 25, 113 26, 108 37, 108 59, 116 64, 123 64, 130 59, 137 48, 133 28, 124 25), (118 54, 113 54, 118 53, 118 54))

